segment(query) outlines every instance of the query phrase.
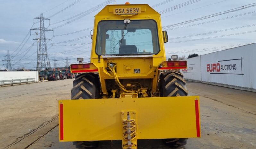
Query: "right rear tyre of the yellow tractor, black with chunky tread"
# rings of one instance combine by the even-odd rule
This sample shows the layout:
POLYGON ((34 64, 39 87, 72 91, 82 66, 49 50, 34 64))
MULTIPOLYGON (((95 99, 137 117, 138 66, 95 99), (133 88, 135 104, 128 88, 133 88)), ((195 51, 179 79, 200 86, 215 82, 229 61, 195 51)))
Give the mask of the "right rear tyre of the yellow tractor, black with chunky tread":
MULTIPOLYGON (((167 71, 160 74, 159 90, 161 97, 187 96, 188 91, 183 74, 175 71, 167 71)), ((187 144, 187 138, 163 139, 165 145, 170 147, 183 146, 187 144)))

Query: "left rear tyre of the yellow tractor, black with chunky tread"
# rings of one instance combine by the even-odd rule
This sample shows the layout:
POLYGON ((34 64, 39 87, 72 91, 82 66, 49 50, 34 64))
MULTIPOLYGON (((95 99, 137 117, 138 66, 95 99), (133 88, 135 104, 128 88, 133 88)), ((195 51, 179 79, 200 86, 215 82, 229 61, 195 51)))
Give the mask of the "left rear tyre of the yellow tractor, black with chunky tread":
MULTIPOLYGON (((71 100, 75 99, 97 99, 99 96, 99 76, 94 73, 77 75, 73 81, 71 100)), ((92 149, 98 146, 98 141, 75 141, 73 145, 80 149, 92 149)))

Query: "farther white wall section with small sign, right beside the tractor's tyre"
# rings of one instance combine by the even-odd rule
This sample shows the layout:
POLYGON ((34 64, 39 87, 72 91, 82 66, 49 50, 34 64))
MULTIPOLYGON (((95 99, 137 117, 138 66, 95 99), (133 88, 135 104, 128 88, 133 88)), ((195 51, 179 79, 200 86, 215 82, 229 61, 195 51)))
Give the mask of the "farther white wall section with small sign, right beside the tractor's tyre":
POLYGON ((201 60, 200 56, 193 57, 187 60, 187 69, 182 69, 185 79, 201 81, 201 60))

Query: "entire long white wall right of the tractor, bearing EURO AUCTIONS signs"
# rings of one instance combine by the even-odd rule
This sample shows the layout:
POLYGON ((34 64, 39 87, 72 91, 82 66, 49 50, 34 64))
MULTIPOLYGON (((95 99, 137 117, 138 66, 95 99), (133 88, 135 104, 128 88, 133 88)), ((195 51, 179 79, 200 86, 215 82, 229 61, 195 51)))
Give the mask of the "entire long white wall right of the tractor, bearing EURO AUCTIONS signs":
POLYGON ((188 70, 181 72, 185 79, 256 91, 255 57, 256 43, 253 43, 186 59, 188 70), (189 70, 190 67, 195 69, 189 70))

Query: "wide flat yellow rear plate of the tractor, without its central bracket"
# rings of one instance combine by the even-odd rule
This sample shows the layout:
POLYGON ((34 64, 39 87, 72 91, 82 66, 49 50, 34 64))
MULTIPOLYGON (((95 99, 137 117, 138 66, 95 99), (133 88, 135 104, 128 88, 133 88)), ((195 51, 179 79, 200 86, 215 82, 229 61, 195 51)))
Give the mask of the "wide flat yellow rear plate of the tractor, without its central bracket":
POLYGON ((60 100, 60 141, 122 140, 122 111, 136 112, 137 139, 197 138, 195 100, 199 97, 60 100))

